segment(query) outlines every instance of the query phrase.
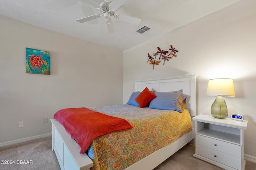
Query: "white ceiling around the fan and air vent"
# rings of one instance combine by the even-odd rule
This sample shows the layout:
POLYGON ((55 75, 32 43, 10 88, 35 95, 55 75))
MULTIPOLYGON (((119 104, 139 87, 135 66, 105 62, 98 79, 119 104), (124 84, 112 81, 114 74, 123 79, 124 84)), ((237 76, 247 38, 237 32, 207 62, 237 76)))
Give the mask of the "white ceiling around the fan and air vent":
MULTIPOLYGON (((116 13, 140 18, 132 25, 114 17, 115 32, 108 33, 103 17, 90 23, 76 20, 100 14, 90 0, 0 0, 0 14, 46 29, 124 51, 154 37, 216 12, 238 0, 127 0, 116 13), (83 12, 84 11, 84 12, 83 12), (152 29, 136 32, 147 25, 152 29)), ((94 0, 100 4, 103 0, 94 0)), ((116 0, 117 1, 117 0, 116 0)))

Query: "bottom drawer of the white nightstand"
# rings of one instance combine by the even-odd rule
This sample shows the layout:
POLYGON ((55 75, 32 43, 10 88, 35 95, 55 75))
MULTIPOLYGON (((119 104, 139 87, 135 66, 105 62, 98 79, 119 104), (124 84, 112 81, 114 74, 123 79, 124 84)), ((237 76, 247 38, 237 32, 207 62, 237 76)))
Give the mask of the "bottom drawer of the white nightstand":
POLYGON ((241 158, 214 149, 196 145, 196 153, 235 169, 241 169, 241 158))

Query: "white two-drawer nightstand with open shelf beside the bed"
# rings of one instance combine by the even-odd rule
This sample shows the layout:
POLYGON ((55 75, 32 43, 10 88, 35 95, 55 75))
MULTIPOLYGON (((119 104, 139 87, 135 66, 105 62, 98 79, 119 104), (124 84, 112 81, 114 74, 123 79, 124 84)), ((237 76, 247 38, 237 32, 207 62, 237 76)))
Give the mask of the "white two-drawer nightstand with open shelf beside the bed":
POLYGON ((227 170, 244 170, 244 129, 247 122, 211 115, 192 118, 196 127, 196 158, 227 170))

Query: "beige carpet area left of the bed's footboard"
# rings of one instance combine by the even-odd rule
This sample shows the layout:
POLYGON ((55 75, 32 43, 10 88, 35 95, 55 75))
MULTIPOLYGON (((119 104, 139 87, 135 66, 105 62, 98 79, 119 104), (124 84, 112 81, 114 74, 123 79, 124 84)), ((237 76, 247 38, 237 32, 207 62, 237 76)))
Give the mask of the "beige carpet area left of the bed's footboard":
POLYGON ((0 170, 60 170, 56 155, 52 152, 51 137, 2 147, 0 160, 14 161, 14 164, 0 164, 0 170), (22 163, 32 160, 32 164, 20 164, 20 160, 22 163))

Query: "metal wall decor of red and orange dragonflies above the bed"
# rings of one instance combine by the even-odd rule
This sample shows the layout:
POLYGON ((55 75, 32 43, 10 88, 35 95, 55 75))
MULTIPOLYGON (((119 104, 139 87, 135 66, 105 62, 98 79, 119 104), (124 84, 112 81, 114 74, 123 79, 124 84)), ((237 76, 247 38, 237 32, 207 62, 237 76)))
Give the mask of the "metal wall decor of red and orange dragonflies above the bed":
POLYGON ((153 55, 150 55, 148 53, 148 61, 150 61, 149 64, 153 65, 153 70, 154 70, 154 66, 159 65, 159 63, 162 60, 165 63, 165 61, 169 61, 170 59, 172 59, 172 57, 177 57, 176 53, 178 52, 178 50, 176 50, 174 47, 172 47, 172 45, 170 45, 170 48, 165 49, 165 50, 160 49, 160 47, 157 47, 157 49, 158 49, 158 51, 156 51, 156 53, 153 53, 153 55))

